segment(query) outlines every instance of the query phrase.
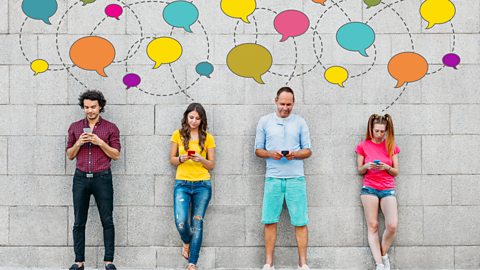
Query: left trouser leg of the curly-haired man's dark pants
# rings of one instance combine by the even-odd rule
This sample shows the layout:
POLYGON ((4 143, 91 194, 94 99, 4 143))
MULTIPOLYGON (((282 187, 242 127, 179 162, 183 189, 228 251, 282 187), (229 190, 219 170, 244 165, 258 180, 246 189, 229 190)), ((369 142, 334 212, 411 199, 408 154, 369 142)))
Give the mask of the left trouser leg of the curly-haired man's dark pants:
POLYGON ((87 224, 88 207, 90 203, 90 188, 88 179, 73 177, 73 212, 75 221, 73 224, 73 249, 75 262, 85 261, 85 225, 87 224))

